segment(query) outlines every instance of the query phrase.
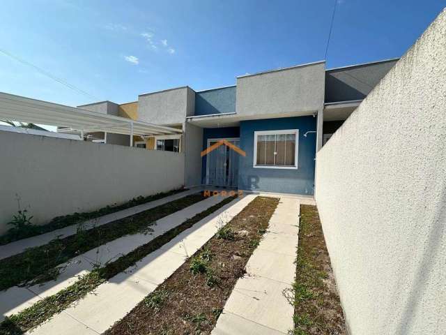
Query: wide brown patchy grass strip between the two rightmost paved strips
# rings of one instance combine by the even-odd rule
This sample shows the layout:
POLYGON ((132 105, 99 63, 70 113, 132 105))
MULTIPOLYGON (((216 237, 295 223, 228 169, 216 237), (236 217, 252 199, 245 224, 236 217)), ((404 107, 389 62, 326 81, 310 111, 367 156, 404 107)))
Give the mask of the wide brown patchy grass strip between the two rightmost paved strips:
POLYGON ((250 202, 104 334, 210 334, 278 202, 264 197, 250 202))

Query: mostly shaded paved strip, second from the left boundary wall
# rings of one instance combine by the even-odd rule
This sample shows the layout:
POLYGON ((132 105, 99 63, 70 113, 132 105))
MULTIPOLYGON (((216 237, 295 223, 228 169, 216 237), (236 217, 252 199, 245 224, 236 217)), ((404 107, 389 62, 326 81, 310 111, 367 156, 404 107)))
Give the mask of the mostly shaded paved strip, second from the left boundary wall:
POLYGON ((205 211, 218 202, 222 201, 222 197, 210 197, 185 209, 176 211, 174 214, 164 216, 151 226, 153 232, 149 234, 130 234, 109 241, 98 248, 91 249, 86 253, 72 258, 70 262, 61 265, 65 268, 55 281, 48 281, 43 284, 33 285, 28 288, 13 287, 8 290, 0 291, 0 321, 5 316, 18 313, 25 308, 35 304, 36 301, 54 295, 56 292, 68 288, 77 281, 79 276, 88 273, 95 265, 104 266, 107 262, 116 260, 133 251, 138 246, 148 243, 155 237, 164 234, 167 230, 180 225, 187 218, 192 218, 196 214, 205 211))

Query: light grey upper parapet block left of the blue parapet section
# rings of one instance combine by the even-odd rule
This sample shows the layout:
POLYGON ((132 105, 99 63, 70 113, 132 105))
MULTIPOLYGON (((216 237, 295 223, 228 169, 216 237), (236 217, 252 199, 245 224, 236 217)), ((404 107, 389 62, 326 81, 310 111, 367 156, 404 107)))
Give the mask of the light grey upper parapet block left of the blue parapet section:
POLYGON ((193 115, 195 92, 189 87, 168 89, 138 98, 138 119, 151 124, 183 124, 193 115))

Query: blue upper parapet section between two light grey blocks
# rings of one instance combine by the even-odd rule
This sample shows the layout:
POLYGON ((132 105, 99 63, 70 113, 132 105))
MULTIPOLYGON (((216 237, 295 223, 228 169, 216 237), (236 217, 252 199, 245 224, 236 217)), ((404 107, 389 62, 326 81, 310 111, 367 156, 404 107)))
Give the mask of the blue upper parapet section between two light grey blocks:
POLYGON ((209 89, 195 94, 195 115, 236 112, 236 87, 209 89))

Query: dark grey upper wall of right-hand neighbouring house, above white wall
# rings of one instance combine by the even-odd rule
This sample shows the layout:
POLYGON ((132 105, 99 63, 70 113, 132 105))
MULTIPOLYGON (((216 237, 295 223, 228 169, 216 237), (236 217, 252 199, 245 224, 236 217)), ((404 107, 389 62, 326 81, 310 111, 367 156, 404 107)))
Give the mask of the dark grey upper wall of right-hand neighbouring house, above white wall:
POLYGON ((325 73, 325 103, 362 100, 395 63, 397 60, 328 70, 325 73))

